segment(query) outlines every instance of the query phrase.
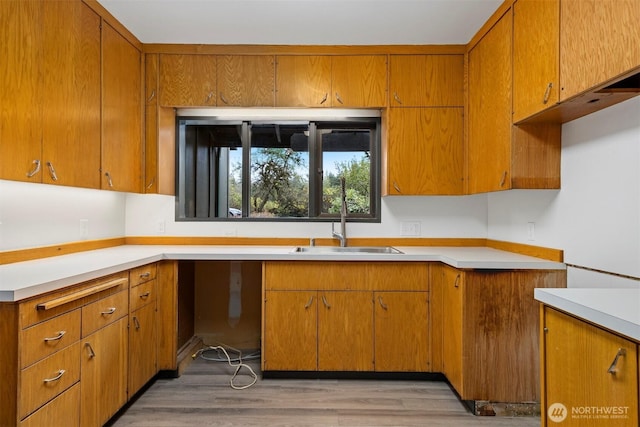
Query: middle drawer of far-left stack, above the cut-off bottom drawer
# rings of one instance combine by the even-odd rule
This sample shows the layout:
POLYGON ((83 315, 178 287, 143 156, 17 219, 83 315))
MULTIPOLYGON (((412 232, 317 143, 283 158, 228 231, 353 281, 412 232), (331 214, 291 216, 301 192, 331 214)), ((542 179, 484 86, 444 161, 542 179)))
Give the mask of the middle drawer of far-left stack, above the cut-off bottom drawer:
POLYGON ((80 342, 24 369, 19 393, 20 419, 80 380, 80 342))

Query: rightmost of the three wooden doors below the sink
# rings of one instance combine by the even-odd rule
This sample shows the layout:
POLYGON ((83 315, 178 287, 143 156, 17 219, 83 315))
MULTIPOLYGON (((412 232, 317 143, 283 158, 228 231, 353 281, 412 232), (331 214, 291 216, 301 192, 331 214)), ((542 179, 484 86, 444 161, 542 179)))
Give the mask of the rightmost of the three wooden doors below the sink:
POLYGON ((429 328, 426 292, 375 292, 375 370, 426 372, 429 328))

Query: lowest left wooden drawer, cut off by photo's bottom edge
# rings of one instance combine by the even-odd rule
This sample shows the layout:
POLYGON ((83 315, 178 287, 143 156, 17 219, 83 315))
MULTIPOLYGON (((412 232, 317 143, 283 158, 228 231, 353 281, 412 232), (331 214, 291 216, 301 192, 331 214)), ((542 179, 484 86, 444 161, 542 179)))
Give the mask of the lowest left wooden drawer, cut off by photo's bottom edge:
POLYGON ((80 426, 80 384, 76 384, 25 418, 20 427, 80 426))

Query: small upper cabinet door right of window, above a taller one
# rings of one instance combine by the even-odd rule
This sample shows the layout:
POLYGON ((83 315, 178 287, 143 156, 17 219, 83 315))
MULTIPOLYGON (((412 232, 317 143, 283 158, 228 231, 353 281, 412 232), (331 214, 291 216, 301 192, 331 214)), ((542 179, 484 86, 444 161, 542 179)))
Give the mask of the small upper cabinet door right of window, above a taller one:
POLYGON ((462 107, 463 55, 390 55, 389 106, 462 107))

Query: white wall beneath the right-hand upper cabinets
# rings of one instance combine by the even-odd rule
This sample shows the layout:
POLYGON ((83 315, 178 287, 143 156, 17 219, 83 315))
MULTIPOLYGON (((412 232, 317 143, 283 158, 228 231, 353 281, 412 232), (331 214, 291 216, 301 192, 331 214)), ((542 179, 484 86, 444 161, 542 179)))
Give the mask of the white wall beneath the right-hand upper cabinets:
MULTIPOLYGON (((488 206, 491 239, 564 249, 567 263, 640 278, 640 98, 563 126, 561 190, 491 193, 488 206)), ((569 272, 570 286, 613 283, 640 286, 569 272)))

